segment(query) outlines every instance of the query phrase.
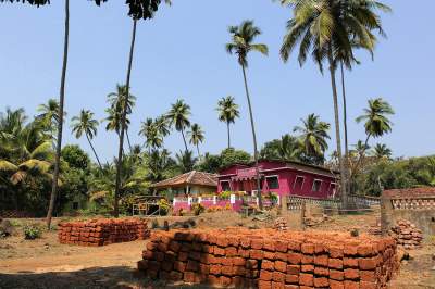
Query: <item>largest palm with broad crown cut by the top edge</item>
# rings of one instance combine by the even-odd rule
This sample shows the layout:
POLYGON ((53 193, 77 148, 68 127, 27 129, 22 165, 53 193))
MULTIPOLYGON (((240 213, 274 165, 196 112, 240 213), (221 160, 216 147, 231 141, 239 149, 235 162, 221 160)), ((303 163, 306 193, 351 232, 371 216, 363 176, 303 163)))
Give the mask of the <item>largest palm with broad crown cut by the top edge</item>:
POLYGON ((339 127, 338 96, 336 86, 337 52, 353 55, 353 43, 361 47, 373 47, 375 36, 373 28, 381 27, 375 9, 384 5, 373 0, 283 0, 294 8, 294 17, 287 23, 287 33, 281 48, 281 56, 287 61, 290 52, 299 45, 298 60, 302 65, 311 53, 314 62, 323 72, 323 62, 330 66, 331 87, 333 92, 336 151, 340 168, 341 202, 347 208, 346 168, 341 153, 339 127))

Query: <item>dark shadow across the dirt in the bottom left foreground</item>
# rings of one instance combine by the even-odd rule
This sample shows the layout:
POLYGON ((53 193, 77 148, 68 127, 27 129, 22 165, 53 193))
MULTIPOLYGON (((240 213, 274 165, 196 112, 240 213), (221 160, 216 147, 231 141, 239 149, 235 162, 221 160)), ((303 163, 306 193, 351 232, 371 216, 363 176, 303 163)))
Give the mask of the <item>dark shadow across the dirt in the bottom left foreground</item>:
POLYGON ((99 289, 99 288, 207 288, 167 284, 161 280, 150 280, 141 273, 127 267, 94 267, 75 272, 49 272, 18 274, 0 273, 0 288, 32 288, 32 289, 99 289))

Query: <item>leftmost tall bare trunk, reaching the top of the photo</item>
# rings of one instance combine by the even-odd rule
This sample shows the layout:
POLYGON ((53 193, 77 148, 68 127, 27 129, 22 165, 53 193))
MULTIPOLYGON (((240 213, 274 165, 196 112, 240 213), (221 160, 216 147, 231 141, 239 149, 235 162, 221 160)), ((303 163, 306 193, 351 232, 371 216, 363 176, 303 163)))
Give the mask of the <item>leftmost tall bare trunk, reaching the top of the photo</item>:
POLYGON ((51 187, 50 204, 49 204, 48 212, 47 212, 47 227, 49 229, 51 226, 51 217, 52 217, 53 211, 54 211, 55 196, 58 193, 59 166, 60 166, 61 152, 62 152, 63 104, 64 104, 64 99, 65 99, 69 37, 70 37, 70 0, 65 0, 65 35, 64 35, 64 43, 63 43, 63 63, 62 63, 61 87, 60 87, 60 93, 59 93, 58 139, 57 139, 57 147, 55 147, 53 183, 52 183, 52 187, 51 187))

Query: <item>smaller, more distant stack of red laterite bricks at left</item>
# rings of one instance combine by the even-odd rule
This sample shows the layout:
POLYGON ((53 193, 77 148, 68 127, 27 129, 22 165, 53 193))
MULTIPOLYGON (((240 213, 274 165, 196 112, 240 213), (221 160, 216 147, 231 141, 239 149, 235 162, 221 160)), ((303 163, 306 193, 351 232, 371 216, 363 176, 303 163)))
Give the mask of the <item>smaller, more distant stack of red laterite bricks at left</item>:
POLYGON ((104 246, 147 239, 147 219, 99 218, 59 224, 59 242, 80 246, 104 246))

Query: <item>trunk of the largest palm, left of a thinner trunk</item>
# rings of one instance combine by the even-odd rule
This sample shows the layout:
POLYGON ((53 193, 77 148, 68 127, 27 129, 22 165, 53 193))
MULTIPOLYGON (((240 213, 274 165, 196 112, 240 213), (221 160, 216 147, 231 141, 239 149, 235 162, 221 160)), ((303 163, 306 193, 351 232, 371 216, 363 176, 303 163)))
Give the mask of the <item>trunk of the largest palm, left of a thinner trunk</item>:
POLYGON ((331 87, 333 89, 333 101, 334 101, 334 116, 335 116, 335 138, 337 141, 337 156, 338 163, 340 168, 340 185, 341 185, 341 205, 343 209, 347 209, 348 200, 347 200, 347 187, 346 187, 346 171, 345 164, 343 161, 341 154, 341 136, 340 136, 340 128, 339 128, 339 112, 338 112, 338 96, 337 96, 337 86, 335 83, 335 67, 334 67, 334 59, 332 47, 330 45, 330 49, 327 51, 327 56, 330 61, 330 73, 331 73, 331 87))

